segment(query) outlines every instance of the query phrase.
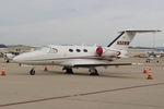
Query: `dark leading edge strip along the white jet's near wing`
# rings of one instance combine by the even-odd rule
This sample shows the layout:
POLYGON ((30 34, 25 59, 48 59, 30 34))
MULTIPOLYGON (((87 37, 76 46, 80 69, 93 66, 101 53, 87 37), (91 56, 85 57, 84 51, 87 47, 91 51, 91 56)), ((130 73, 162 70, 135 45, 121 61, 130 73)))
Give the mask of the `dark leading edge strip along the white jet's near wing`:
POLYGON ((89 66, 107 66, 107 65, 140 65, 142 63, 99 63, 99 64, 74 64, 74 68, 89 68, 89 66))

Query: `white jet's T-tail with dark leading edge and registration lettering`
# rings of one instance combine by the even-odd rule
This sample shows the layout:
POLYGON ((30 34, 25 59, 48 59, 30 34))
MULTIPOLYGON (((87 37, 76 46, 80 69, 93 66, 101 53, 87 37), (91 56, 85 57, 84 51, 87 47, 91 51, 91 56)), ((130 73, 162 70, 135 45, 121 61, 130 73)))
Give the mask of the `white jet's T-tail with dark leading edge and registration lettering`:
POLYGON ((137 33, 156 33, 161 31, 122 31, 120 35, 116 37, 107 47, 117 50, 127 50, 130 43, 134 38, 137 33))

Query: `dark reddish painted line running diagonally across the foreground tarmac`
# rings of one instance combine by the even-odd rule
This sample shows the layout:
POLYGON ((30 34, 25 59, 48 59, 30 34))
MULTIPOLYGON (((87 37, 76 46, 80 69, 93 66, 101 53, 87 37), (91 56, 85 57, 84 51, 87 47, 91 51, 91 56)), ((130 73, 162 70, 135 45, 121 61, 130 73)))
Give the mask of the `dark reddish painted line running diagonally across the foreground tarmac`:
POLYGON ((114 89, 106 89, 106 90, 98 90, 98 92, 91 92, 91 93, 82 93, 82 94, 74 94, 74 95, 68 95, 68 96, 59 96, 59 97, 50 97, 50 98, 43 98, 43 99, 35 99, 35 100, 11 102, 11 104, 0 105, 0 108, 1 107, 9 107, 9 106, 32 104, 32 102, 40 102, 40 101, 47 101, 47 100, 55 100, 55 99, 63 99, 63 98, 70 98, 70 97, 80 97, 80 96, 103 94, 103 93, 109 93, 109 92, 118 92, 118 90, 127 90, 127 89, 141 88, 141 87, 150 87, 150 86, 156 86, 156 85, 164 85, 164 83, 137 85, 137 86, 130 86, 130 87, 114 88, 114 89))

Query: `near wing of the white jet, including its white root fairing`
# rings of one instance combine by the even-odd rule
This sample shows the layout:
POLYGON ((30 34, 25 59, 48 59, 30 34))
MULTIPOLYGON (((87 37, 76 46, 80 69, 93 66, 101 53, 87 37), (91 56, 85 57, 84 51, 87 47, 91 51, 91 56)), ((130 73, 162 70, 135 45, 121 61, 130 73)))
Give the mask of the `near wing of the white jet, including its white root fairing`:
POLYGON ((83 59, 78 59, 78 60, 70 60, 67 62, 62 62, 61 65, 67 65, 67 66, 73 66, 73 68, 90 68, 90 66, 108 66, 108 65, 139 65, 141 63, 112 63, 112 62, 104 62, 102 60, 83 60, 83 59))

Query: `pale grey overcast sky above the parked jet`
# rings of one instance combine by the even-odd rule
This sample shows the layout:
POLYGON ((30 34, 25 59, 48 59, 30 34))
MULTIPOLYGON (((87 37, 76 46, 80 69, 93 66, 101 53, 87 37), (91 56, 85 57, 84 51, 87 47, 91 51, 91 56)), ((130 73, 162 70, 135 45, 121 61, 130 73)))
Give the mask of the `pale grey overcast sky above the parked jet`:
MULTIPOLYGON (((125 29, 164 31, 164 0, 0 0, 0 44, 107 46, 125 29)), ((164 47, 164 32, 131 46, 164 47)))

